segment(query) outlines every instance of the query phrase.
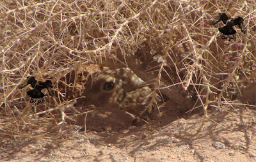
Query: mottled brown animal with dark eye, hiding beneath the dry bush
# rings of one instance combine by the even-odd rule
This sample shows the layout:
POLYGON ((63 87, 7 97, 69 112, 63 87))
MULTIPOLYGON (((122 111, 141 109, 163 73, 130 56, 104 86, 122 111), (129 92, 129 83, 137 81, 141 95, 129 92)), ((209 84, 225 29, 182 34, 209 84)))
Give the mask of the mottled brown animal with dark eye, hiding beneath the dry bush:
POLYGON ((109 68, 88 77, 86 104, 118 108, 138 115, 145 110, 151 89, 129 68, 109 68))

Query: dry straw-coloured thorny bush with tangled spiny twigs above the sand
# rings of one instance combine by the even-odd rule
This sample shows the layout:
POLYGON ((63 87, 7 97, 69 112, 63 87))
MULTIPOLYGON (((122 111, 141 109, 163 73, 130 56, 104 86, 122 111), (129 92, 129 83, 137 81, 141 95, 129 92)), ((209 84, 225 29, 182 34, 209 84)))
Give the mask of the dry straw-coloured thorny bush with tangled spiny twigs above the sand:
POLYGON ((60 114, 68 117, 65 108, 81 97, 92 64, 128 66, 152 96, 204 110, 204 117, 210 107, 255 105, 247 91, 256 75, 253 1, 3 0, 0 8, 1 135, 62 138, 74 131, 60 114), (220 12, 243 17, 246 34, 236 28, 236 40, 221 40, 208 24, 220 12), (17 89, 28 76, 52 80, 55 98, 31 108, 17 89))

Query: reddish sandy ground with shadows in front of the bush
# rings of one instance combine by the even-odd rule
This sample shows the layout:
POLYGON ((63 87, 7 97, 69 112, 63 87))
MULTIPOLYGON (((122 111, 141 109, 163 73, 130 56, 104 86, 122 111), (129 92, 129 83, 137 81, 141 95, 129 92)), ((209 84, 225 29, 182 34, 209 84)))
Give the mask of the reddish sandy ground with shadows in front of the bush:
MULTIPOLYGON (((100 114, 100 108, 94 111, 100 114)), ((198 113, 174 120, 166 113, 143 126, 125 126, 124 116, 113 115, 120 112, 105 112, 93 124, 88 114, 87 128, 96 131, 65 140, 1 139, 1 161, 256 161, 255 110, 211 112, 196 136, 198 113)))

